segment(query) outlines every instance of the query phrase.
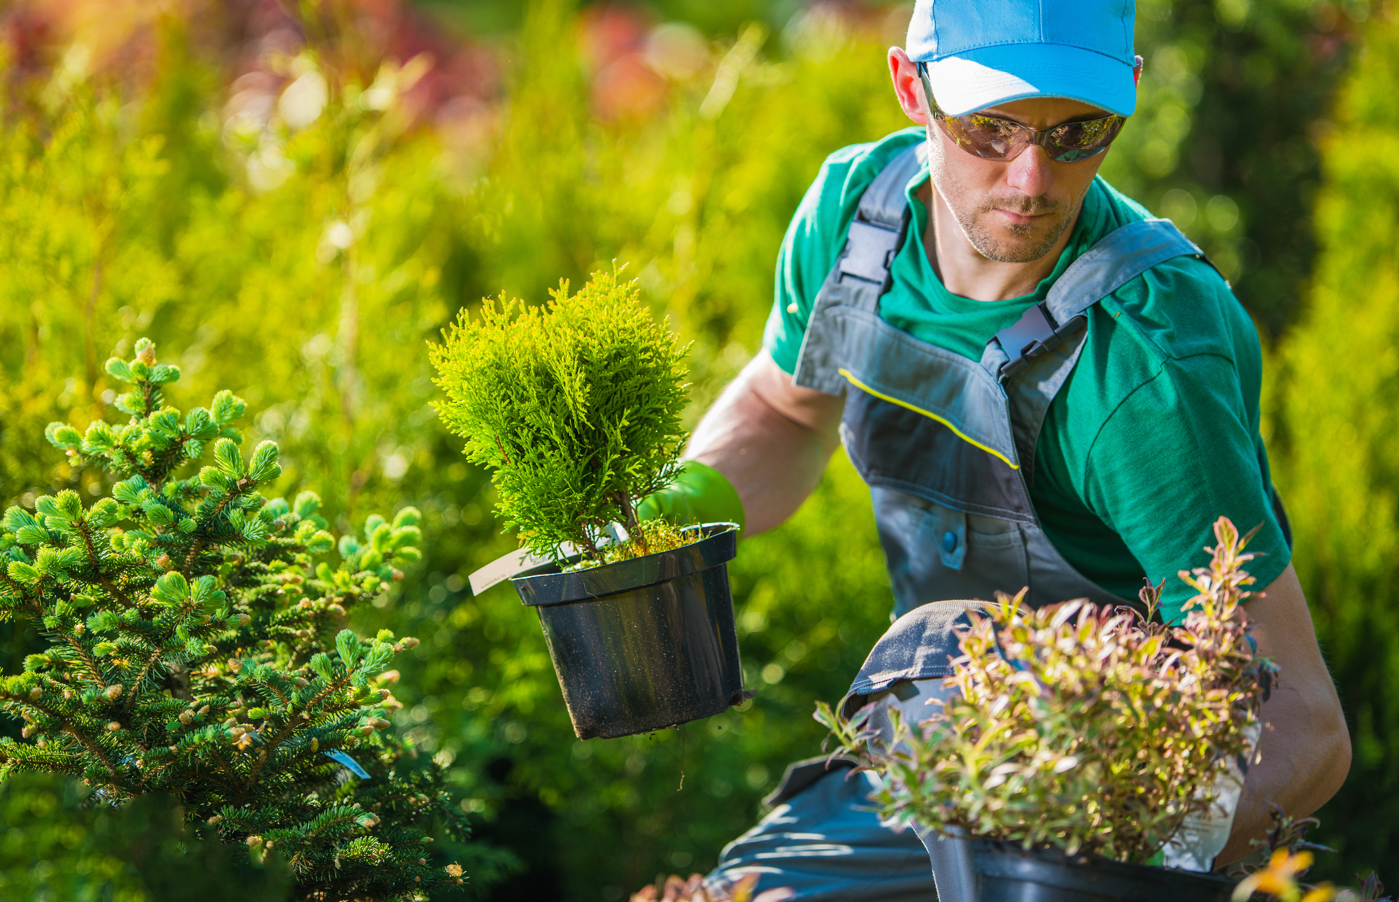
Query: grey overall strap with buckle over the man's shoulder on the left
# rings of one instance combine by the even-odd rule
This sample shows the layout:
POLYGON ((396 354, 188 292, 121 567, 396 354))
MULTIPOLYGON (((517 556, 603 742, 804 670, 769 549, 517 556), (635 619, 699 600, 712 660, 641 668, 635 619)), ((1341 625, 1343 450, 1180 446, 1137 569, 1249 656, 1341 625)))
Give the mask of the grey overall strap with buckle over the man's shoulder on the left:
POLYGON ((860 292, 859 306, 877 306, 879 295, 888 291, 888 269, 894 263, 908 234, 909 211, 904 189, 928 158, 923 141, 902 151, 874 178, 851 222, 845 236, 845 249, 835 262, 837 281, 845 277, 859 278, 879 285, 877 292, 860 292), (873 296, 872 296, 873 295, 873 296))

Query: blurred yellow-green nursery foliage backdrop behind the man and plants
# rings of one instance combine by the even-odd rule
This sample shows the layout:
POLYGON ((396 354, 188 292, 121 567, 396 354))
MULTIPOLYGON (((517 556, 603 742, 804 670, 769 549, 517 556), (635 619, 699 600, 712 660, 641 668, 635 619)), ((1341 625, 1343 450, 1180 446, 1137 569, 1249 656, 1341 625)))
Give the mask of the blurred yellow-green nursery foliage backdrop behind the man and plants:
MULTIPOLYGON (((866 491, 837 454, 790 523, 741 545, 753 701, 579 743, 534 614, 467 589, 513 543, 429 407, 425 343, 485 295, 539 302, 625 263, 693 341, 693 422, 758 347, 821 159, 907 124, 883 55, 909 8, 0 4, 0 508, 99 491, 42 427, 115 415, 102 361, 150 336, 183 368, 176 406, 248 400, 280 488, 340 524, 422 509, 425 559, 360 625, 422 638, 399 729, 473 815, 469 894, 611 901, 709 868, 817 752, 813 703, 888 624, 866 491)), ((1210 253, 1263 336, 1265 436, 1354 740, 1314 874, 1399 882, 1399 8, 1140 0, 1137 49, 1139 113, 1104 173, 1210 253)), ((4 671, 36 640, 0 624, 4 671)), ((186 898, 159 895, 157 814, 83 799, 0 785, 0 896, 186 898)), ((221 898, 210 860, 189 898, 221 898)))

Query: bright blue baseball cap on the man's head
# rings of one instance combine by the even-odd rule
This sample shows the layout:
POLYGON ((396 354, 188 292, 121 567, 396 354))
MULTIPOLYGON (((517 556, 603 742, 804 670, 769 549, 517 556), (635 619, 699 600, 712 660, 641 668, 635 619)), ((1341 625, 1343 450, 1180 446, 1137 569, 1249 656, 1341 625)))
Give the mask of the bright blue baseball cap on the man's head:
POLYGON ((1027 96, 1136 110, 1133 0, 918 0, 908 57, 949 116, 1027 96))

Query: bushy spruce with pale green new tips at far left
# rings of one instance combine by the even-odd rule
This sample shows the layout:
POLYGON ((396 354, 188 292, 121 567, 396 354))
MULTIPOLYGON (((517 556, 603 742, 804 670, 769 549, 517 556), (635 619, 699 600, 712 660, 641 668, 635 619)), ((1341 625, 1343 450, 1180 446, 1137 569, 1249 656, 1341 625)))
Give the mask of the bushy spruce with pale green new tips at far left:
POLYGON ((389 731, 388 667, 417 639, 344 628, 418 559, 418 512, 371 516, 364 537, 341 536, 339 566, 316 562, 336 548, 320 502, 259 492, 281 467, 273 442, 239 450, 242 400, 220 392, 180 417, 162 397, 179 369, 144 338, 106 372, 133 383, 116 400, 129 421, 56 422, 48 438, 106 470, 111 496, 84 506, 67 489, 0 520, 0 617, 48 642, 0 680, 0 709, 25 723, 0 738, 0 779, 78 778, 99 806, 173 796, 243 861, 281 856, 301 899, 462 884, 424 843, 434 821, 464 838, 464 815, 389 731))

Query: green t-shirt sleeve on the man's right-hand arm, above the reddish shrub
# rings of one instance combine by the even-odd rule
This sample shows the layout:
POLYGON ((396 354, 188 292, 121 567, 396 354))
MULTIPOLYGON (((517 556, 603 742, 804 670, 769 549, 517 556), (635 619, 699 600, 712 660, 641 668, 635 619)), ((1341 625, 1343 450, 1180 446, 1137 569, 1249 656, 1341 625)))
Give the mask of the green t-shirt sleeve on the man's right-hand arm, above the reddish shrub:
POLYGON ((1151 583, 1165 580, 1167 621, 1179 618, 1195 594, 1178 572, 1209 564, 1205 547, 1216 544, 1220 516, 1241 533, 1259 527, 1248 544, 1259 554, 1248 565, 1254 590, 1291 561, 1273 512, 1267 453, 1242 403, 1245 387, 1228 357, 1165 359, 1104 421, 1088 454, 1086 501, 1151 583))

